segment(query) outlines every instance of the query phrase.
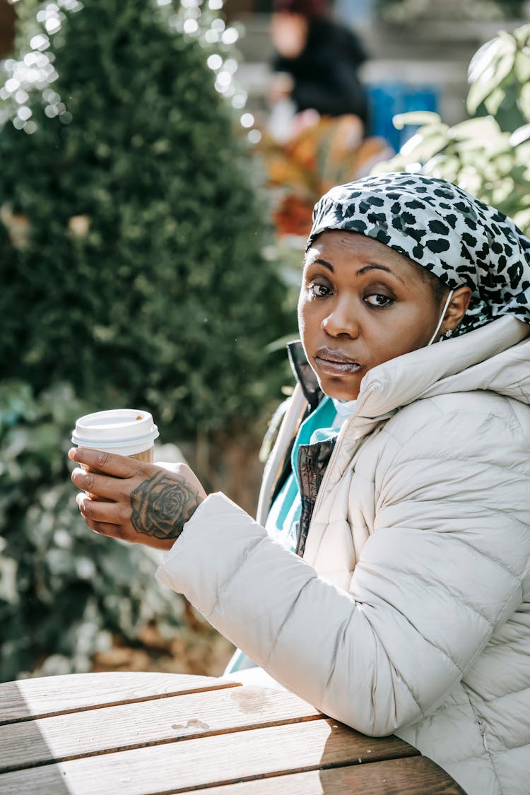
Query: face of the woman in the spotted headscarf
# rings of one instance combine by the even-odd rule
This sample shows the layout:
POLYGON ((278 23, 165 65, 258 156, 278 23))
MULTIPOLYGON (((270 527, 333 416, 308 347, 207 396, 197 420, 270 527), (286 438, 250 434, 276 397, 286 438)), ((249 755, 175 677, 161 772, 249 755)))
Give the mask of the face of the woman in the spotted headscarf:
POLYGON ((298 322, 330 397, 354 400, 368 370, 427 345, 441 311, 429 281, 377 240, 328 231, 308 250, 298 322))

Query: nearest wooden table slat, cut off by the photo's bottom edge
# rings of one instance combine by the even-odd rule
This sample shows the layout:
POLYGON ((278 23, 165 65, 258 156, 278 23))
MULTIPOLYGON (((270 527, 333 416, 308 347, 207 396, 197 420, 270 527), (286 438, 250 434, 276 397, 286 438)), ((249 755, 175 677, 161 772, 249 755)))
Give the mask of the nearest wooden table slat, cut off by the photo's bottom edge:
MULTIPOLYGON (((176 791, 173 790, 171 795, 176 791)), ((373 765, 311 770, 208 789, 188 789, 180 795, 466 795, 445 770, 424 756, 392 759, 373 765)))

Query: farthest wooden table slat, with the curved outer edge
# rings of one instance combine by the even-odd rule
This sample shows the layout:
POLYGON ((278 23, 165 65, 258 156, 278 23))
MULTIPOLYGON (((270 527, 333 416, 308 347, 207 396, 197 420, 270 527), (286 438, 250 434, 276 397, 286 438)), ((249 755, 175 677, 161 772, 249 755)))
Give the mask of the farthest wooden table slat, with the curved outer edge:
POLYGON ((130 671, 21 679, 0 684, 0 725, 110 704, 240 686, 222 678, 130 671))

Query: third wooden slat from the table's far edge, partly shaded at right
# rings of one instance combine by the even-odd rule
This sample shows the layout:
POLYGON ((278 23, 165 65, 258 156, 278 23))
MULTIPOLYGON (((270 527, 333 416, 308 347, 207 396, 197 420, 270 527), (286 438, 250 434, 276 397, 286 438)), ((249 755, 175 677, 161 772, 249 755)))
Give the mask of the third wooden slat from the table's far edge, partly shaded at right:
POLYGON ((0 792, 2 795, 181 793, 242 779, 356 762, 370 762, 361 766, 362 770, 368 770, 377 759, 418 753, 396 737, 372 741, 331 719, 319 719, 18 770, 0 776, 0 792))

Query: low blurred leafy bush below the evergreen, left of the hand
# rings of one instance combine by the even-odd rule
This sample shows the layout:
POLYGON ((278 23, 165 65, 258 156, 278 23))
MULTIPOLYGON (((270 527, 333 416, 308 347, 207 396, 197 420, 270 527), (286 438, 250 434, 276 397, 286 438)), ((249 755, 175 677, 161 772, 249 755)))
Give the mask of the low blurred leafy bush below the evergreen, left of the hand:
POLYGON ((38 398, 0 385, 0 680, 90 668, 111 636, 133 644, 151 621, 169 632, 180 599, 154 580, 157 553, 91 533, 67 456, 86 406, 56 386, 38 398))

